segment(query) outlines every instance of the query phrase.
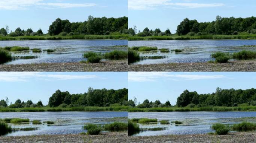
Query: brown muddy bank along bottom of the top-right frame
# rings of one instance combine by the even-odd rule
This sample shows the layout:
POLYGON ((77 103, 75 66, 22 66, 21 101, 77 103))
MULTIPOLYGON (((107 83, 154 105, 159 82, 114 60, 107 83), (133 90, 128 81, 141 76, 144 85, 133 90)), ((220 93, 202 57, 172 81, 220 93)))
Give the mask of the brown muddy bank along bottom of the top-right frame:
POLYGON ((168 63, 128 65, 129 71, 256 71, 256 60, 229 63, 168 63))

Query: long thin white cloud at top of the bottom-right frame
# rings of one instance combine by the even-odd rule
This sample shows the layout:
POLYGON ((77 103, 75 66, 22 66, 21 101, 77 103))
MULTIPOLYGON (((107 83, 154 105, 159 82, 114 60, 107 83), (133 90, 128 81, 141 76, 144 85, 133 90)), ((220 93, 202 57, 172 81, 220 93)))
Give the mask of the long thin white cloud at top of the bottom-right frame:
POLYGON ((220 79, 223 75, 200 75, 200 74, 172 74, 168 72, 129 72, 129 82, 152 82, 159 78, 165 80, 200 80, 200 79, 220 79))

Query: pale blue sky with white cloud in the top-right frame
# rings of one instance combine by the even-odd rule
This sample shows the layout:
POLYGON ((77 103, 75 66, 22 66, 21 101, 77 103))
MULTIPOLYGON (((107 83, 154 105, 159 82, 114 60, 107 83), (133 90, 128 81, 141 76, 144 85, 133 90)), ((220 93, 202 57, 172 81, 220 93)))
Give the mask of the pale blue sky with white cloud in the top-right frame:
POLYGON ((129 28, 137 26, 137 31, 167 28, 172 33, 185 19, 196 19, 198 22, 209 22, 217 15, 235 18, 255 16, 255 0, 128 0, 129 28))

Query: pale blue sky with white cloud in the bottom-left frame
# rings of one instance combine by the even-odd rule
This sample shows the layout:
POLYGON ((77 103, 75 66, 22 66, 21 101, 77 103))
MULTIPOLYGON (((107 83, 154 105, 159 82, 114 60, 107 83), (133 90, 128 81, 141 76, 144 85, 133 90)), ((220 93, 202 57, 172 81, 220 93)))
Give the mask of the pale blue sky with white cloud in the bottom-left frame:
POLYGON ((128 88, 127 72, 0 72, 0 100, 7 96, 14 103, 41 100, 48 104, 56 90, 71 94, 94 89, 128 88))

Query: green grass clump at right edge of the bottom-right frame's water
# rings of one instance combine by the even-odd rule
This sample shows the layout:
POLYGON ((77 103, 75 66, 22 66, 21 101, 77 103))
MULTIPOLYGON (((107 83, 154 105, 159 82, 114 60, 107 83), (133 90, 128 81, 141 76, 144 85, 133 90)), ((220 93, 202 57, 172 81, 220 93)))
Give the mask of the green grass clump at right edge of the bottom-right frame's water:
POLYGON ((234 131, 254 131, 254 130, 256 130, 256 124, 249 123, 249 122, 242 122, 239 124, 234 124, 232 126, 232 130, 234 130, 234 131))

